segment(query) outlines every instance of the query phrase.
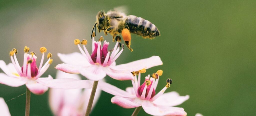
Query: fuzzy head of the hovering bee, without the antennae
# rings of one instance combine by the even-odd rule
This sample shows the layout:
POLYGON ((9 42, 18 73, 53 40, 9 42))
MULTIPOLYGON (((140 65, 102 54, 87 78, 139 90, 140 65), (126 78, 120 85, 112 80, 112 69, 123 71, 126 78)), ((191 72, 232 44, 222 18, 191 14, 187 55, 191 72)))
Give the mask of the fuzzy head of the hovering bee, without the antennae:
POLYGON ((104 28, 106 24, 106 18, 107 18, 106 14, 103 10, 98 12, 96 19, 97 19, 97 28, 99 32, 104 28))

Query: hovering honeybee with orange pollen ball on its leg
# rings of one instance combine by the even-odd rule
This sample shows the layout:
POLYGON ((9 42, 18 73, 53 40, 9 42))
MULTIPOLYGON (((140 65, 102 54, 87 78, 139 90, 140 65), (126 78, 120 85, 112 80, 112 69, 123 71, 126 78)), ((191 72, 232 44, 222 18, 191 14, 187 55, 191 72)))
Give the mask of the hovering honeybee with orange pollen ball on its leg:
POLYGON ((154 39, 155 37, 160 36, 159 30, 154 24, 148 20, 134 15, 126 16, 125 13, 112 10, 105 13, 103 10, 101 10, 98 12, 96 20, 97 21, 93 26, 94 31, 96 30, 95 27, 97 27, 99 33, 101 30, 104 31, 105 35, 110 33, 110 35, 113 36, 113 41, 115 41, 115 38, 120 38, 120 36, 116 35, 122 34, 126 46, 131 51, 133 51, 133 49, 130 47, 130 33, 137 34, 142 36, 142 38, 149 39, 154 39))

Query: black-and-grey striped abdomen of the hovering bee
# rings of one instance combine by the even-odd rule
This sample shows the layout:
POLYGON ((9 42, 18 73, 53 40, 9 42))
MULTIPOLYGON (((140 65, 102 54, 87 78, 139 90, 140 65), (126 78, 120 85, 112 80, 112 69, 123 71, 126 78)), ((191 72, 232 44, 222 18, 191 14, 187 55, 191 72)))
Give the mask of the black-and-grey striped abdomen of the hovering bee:
POLYGON ((125 20, 125 25, 130 29, 131 33, 140 35, 144 38, 155 38, 160 36, 160 32, 157 27, 141 17, 129 15, 125 20))

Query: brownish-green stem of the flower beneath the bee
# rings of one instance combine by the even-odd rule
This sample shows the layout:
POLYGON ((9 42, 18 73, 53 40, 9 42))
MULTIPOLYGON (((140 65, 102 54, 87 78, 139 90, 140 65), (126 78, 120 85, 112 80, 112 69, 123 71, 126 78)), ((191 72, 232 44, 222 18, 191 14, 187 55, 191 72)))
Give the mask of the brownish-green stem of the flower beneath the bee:
POLYGON ((96 89, 97 89, 97 86, 98 86, 98 82, 99 82, 99 81, 94 81, 94 82, 93 82, 92 92, 91 92, 91 96, 90 96, 90 99, 89 99, 89 103, 88 103, 88 105, 87 105, 87 109, 86 109, 86 112, 85 112, 85 116, 89 116, 89 114, 90 114, 90 112, 91 112, 92 103, 93 103, 93 99, 94 99, 94 96, 95 96, 95 92, 96 92, 96 89))

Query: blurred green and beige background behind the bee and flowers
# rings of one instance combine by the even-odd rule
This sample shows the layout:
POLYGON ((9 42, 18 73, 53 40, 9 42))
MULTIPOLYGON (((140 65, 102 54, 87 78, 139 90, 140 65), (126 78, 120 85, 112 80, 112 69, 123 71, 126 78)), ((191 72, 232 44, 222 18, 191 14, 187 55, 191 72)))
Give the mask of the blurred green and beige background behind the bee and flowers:
MULTIPOLYGON (((190 95, 182 107, 188 115, 255 115, 256 76, 256 2, 255 1, 0 1, 0 59, 10 62, 9 51, 17 48, 20 62, 24 46, 35 51, 45 46, 53 54, 54 63, 42 77, 55 77, 57 53, 79 51, 73 40, 89 43, 95 16, 126 6, 128 15, 143 17, 155 24, 161 36, 154 40, 132 35, 134 49, 125 47, 117 64, 160 56, 163 65, 147 70, 164 71, 156 92, 167 78, 173 84, 166 92, 190 95)), ((104 36, 98 34, 97 38, 104 36)), ((110 35, 104 36, 114 46, 110 35)), ((90 44, 88 44, 90 46, 90 44)), ((91 51, 91 50, 89 50, 91 51)), ((39 63, 39 62, 38 62, 39 63)), ((1 71, 2 72, 2 71, 1 71)), ((143 74, 146 76, 147 74, 143 74)), ((131 81, 106 81, 125 89, 131 81)), ((0 97, 6 101, 26 91, 25 86, 0 85, 0 97)), ((91 115, 131 115, 110 102, 113 95, 102 92, 91 115)), ((7 102, 12 115, 25 114, 25 95, 7 102)), ((52 115, 48 92, 32 94, 30 114, 52 115)), ((143 110, 139 115, 148 115, 143 110)))

